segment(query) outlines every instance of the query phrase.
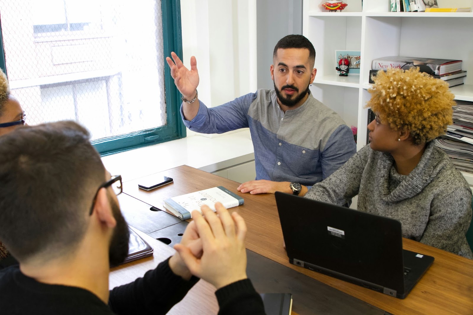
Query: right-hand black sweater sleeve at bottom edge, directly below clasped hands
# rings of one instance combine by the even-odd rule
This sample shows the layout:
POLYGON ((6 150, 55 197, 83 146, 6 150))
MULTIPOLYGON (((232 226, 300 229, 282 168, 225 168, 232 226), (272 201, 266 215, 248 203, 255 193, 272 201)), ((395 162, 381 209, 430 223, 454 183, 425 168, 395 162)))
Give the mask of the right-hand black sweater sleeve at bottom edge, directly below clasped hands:
POLYGON ((263 315, 263 300, 256 292, 251 280, 230 283, 215 291, 219 302, 219 315, 263 315))

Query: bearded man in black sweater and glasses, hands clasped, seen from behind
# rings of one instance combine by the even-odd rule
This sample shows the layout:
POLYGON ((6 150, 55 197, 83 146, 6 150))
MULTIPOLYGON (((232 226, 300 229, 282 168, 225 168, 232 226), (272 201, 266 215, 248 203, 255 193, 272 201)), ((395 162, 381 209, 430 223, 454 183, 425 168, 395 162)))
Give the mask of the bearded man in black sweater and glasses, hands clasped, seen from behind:
POLYGON ((110 266, 128 253, 122 178, 76 122, 0 137, 0 187, 0 238, 19 261, 0 271, 1 314, 166 314, 199 278, 217 288, 220 315, 264 314, 246 276, 245 221, 219 203, 193 212, 173 256, 109 291, 110 266))

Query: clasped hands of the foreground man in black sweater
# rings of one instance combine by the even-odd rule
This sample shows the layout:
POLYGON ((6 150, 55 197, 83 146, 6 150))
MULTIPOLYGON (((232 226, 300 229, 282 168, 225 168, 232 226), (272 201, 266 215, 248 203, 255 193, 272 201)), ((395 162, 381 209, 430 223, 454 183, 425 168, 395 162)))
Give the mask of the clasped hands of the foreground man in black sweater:
POLYGON ((199 277, 220 289, 246 279, 246 225, 236 212, 231 215, 220 203, 217 214, 207 205, 192 212, 193 221, 187 225, 181 243, 174 245, 177 253, 169 267, 182 278, 199 277))

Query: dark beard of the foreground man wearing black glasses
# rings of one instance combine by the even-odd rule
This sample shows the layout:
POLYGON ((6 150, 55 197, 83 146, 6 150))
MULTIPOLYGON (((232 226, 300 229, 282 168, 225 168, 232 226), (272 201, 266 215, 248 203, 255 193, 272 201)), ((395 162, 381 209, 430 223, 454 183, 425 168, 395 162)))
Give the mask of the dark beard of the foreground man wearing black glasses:
POLYGON ((122 211, 120 211, 117 202, 110 195, 108 195, 108 201, 110 202, 112 213, 117 222, 108 251, 110 267, 114 267, 123 263, 128 255, 130 231, 128 230, 128 224, 126 223, 125 218, 123 218, 122 211))

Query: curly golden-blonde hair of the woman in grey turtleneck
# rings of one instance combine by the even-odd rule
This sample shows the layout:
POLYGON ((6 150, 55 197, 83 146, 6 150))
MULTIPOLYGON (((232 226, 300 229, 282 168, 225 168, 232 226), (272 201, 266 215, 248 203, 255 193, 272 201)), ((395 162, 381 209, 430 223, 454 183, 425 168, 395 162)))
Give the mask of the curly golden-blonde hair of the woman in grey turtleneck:
POLYGON ((368 90, 371 99, 365 107, 371 107, 392 129, 410 131, 415 145, 445 134, 447 125, 452 124, 455 96, 447 82, 416 67, 378 71, 373 80, 375 84, 368 90))

